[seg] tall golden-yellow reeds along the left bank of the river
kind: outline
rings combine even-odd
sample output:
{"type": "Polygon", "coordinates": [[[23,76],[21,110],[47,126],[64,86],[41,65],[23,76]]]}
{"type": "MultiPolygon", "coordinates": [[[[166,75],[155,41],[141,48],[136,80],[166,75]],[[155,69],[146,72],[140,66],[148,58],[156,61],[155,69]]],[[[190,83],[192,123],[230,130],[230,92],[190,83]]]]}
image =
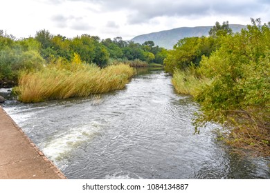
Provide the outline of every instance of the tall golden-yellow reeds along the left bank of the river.
{"type": "Polygon", "coordinates": [[[39,72],[22,72],[16,92],[24,103],[89,96],[123,89],[133,74],[133,68],[125,64],[102,69],[95,65],[81,65],[75,70],[44,68],[39,72]]]}

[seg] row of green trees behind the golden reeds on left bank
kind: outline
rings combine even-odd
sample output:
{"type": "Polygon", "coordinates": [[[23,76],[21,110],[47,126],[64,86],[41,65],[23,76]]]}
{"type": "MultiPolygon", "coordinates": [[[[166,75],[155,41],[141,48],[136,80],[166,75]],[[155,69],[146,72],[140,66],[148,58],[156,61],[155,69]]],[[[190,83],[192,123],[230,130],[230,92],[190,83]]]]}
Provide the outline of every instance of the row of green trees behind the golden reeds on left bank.
{"type": "Polygon", "coordinates": [[[0,30],[0,87],[7,81],[16,84],[20,70],[39,70],[57,60],[72,62],[74,53],[83,63],[100,67],[105,67],[109,59],[163,64],[167,56],[167,50],[154,46],[153,41],[140,44],[122,37],[100,40],[89,34],[66,38],[45,29],[36,32],[35,37],[16,39],[0,30]]]}

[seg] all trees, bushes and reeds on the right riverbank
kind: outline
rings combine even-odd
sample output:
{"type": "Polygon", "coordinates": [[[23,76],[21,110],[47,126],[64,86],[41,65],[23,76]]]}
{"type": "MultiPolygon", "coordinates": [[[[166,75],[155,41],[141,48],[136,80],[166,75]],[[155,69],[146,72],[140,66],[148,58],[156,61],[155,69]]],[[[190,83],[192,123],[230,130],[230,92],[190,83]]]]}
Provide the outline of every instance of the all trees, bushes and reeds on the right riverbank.
{"type": "Polygon", "coordinates": [[[237,151],[270,155],[270,23],[233,34],[216,23],[209,37],[180,40],[165,59],[177,92],[200,104],[195,125],[224,125],[220,139],[237,151]]]}

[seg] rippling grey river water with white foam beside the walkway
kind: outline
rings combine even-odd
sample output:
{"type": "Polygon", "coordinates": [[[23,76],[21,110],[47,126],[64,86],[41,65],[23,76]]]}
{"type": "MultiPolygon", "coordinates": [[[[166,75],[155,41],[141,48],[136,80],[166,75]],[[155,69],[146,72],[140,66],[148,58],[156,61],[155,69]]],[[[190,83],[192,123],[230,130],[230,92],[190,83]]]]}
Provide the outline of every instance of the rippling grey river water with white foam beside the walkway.
{"type": "Polygon", "coordinates": [[[231,154],[217,125],[193,134],[198,105],[145,71],[109,94],[3,108],[69,179],[270,179],[269,159],[231,154]]]}

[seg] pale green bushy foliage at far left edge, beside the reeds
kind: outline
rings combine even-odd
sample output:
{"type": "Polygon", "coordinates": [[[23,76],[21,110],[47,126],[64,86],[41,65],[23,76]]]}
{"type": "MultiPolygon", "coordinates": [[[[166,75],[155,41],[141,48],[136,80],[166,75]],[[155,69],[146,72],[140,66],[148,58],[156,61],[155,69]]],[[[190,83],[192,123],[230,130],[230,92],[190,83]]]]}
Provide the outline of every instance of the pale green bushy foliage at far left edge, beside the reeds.
{"type": "Polygon", "coordinates": [[[0,86],[16,84],[19,70],[42,68],[44,59],[39,54],[38,41],[33,38],[15,41],[12,36],[0,34],[0,86]]]}

